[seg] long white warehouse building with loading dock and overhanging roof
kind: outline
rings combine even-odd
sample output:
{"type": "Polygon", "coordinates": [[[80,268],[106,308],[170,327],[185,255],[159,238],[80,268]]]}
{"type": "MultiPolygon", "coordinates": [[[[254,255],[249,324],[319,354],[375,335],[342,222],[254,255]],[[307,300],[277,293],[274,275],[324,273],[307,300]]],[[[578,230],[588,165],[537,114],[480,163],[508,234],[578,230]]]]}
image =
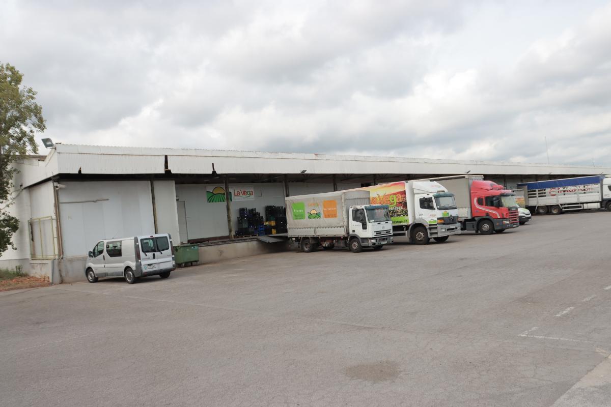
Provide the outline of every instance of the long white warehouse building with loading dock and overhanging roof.
{"type": "Polygon", "coordinates": [[[284,206],[289,195],[464,173],[509,189],[611,173],[609,167],[576,165],[59,143],[16,167],[7,210],[20,229],[0,267],[48,276],[52,283],[84,280],[86,254],[101,239],[167,232],[175,244],[199,244],[204,262],[282,250],[285,245],[235,233],[241,207],[263,214],[265,206],[284,206]]]}

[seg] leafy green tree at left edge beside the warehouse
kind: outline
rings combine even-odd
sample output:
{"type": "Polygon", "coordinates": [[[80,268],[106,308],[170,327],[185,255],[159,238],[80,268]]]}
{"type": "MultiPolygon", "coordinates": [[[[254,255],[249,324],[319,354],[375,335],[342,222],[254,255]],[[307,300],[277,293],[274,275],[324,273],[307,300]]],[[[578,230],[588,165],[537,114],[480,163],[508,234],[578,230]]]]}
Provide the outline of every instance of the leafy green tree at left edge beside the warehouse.
{"type": "Polygon", "coordinates": [[[37,153],[36,132],[46,129],[36,92],[21,85],[23,74],[9,63],[0,63],[0,254],[12,243],[19,220],[6,208],[12,203],[13,162],[28,153],[37,153]]]}

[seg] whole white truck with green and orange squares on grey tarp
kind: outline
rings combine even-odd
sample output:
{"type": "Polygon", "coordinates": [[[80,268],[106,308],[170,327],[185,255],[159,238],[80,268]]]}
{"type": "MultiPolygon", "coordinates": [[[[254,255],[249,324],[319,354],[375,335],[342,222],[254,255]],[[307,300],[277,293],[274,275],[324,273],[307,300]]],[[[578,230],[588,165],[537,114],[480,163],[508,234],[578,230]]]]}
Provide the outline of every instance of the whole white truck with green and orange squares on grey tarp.
{"type": "Polygon", "coordinates": [[[347,190],[288,196],[287,229],[292,245],[305,253],[318,247],[380,250],[393,242],[387,205],[371,205],[369,192],[347,190]]]}

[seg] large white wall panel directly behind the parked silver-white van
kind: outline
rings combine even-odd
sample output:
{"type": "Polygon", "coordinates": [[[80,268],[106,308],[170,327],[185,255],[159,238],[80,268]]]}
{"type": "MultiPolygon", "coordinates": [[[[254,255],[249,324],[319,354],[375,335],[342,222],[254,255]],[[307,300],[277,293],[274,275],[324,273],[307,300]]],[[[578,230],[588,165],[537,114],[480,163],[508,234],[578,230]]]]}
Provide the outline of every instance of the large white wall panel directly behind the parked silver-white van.
{"type": "Polygon", "coordinates": [[[59,190],[64,256],[86,256],[100,239],[152,234],[149,181],[66,181],[59,190]]]}

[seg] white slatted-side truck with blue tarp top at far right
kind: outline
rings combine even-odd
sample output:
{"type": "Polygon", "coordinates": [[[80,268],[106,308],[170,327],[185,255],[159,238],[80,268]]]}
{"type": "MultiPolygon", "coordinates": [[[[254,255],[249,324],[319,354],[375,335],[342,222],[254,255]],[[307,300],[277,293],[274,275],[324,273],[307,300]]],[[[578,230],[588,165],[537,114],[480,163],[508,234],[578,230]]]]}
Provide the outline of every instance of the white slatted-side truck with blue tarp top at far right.
{"type": "Polygon", "coordinates": [[[611,211],[611,176],[594,175],[521,182],[524,204],[538,215],[605,208],[611,211]]]}

